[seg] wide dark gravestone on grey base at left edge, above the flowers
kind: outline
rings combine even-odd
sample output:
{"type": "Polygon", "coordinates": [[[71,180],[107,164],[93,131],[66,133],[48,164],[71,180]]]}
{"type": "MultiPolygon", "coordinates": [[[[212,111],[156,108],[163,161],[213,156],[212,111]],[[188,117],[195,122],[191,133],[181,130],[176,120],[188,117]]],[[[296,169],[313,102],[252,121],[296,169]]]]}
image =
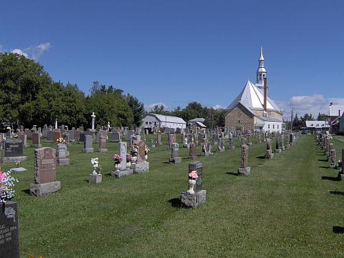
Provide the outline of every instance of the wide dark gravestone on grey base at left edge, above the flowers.
{"type": "Polygon", "coordinates": [[[15,162],[26,160],[23,154],[23,141],[18,139],[6,139],[3,141],[1,162],[15,162]]]}

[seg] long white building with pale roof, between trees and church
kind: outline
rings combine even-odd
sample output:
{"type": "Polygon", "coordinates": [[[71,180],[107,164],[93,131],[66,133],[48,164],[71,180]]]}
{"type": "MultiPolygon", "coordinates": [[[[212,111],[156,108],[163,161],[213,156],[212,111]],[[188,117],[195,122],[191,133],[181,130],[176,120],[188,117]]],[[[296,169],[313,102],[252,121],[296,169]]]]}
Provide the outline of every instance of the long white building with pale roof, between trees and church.
{"type": "Polygon", "coordinates": [[[164,116],[159,114],[146,114],[142,120],[141,127],[153,128],[153,127],[169,127],[169,128],[180,128],[185,129],[186,122],[182,118],[177,116],[164,116]]]}

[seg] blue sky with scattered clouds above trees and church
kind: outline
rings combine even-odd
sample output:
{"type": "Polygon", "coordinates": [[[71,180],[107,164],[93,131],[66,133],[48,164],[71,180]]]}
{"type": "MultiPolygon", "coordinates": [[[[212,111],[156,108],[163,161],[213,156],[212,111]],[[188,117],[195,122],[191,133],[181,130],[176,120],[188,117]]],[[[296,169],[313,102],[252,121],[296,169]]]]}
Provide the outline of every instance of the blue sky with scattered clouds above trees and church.
{"type": "Polygon", "coordinates": [[[344,105],[344,1],[1,1],[0,52],[53,80],[113,85],[147,110],[225,108],[255,83],[262,42],[268,96],[290,120],[344,105]]]}

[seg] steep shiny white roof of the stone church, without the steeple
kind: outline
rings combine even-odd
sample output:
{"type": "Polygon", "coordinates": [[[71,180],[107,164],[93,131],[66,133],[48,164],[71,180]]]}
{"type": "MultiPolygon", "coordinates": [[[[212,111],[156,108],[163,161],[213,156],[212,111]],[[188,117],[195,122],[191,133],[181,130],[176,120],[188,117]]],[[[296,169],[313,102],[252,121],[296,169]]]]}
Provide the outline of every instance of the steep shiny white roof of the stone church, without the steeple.
{"type": "MultiPolygon", "coordinates": [[[[240,92],[237,98],[230,103],[227,110],[233,109],[239,102],[252,110],[263,110],[264,94],[255,85],[253,85],[250,80],[248,80],[244,89],[240,92]]],[[[266,109],[280,112],[279,107],[277,107],[269,97],[266,99],[266,109]]]]}

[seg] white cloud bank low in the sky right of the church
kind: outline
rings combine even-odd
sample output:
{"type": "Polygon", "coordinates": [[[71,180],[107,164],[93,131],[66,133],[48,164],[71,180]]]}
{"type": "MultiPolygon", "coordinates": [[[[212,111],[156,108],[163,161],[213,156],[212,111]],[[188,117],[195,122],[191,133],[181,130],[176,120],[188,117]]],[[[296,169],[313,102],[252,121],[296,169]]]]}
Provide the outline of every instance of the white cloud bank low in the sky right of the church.
{"type": "Polygon", "coordinates": [[[328,114],[328,107],[331,102],[333,105],[344,105],[344,98],[325,99],[321,94],[314,94],[312,96],[293,96],[286,102],[275,101],[279,108],[283,109],[285,120],[290,120],[292,109],[294,109],[294,115],[297,114],[299,118],[308,113],[316,119],[319,112],[320,114],[328,114]]]}

